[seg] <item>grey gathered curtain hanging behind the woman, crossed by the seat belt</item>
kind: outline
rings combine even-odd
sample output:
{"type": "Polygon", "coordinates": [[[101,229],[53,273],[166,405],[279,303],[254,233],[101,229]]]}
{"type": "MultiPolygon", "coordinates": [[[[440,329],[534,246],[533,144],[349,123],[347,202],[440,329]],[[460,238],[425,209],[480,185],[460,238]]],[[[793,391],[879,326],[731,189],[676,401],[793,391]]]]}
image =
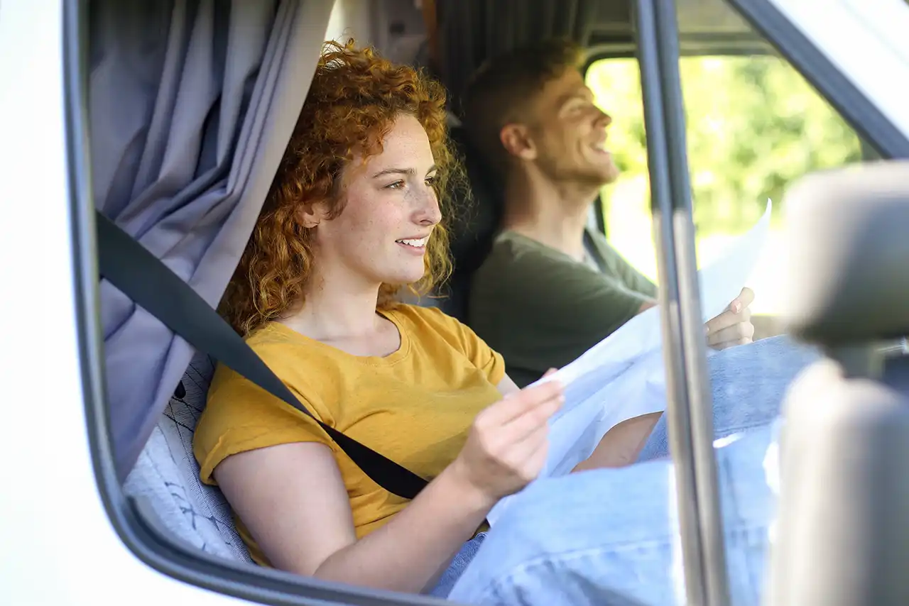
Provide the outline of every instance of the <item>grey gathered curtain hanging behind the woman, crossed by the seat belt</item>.
{"type": "MultiPolygon", "coordinates": [[[[95,204],[215,306],[303,106],[331,0],[98,0],[89,15],[95,204]]],[[[192,350],[101,284],[117,472],[192,350]]]]}

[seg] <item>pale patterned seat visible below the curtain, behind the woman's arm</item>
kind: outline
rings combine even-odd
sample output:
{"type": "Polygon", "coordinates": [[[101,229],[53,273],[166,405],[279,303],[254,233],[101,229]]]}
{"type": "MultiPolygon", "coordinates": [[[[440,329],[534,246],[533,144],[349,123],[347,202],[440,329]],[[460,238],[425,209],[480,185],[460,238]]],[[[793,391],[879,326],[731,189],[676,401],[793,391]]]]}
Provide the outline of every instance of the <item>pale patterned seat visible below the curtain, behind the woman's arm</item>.
{"type": "Polygon", "coordinates": [[[227,560],[252,564],[224,495],[199,480],[199,465],[193,456],[195,423],[205,408],[214,373],[213,360],[196,354],[181,382],[183,389],[167,403],[124,490],[128,496],[144,497],[157,514],[157,522],[176,539],[227,560]]]}

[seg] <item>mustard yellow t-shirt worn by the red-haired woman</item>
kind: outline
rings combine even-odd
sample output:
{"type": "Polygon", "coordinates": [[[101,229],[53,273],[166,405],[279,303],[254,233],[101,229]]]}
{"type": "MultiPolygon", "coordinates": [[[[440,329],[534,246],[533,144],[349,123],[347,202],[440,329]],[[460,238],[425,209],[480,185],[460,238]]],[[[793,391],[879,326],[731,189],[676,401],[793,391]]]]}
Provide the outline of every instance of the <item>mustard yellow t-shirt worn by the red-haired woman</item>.
{"type": "MultiPolygon", "coordinates": [[[[385,357],[345,353],[280,323],[247,343],[322,422],[432,479],[454,461],[477,412],[501,398],[504,361],[437,309],[399,305],[383,315],[401,334],[400,348],[385,357]]],[[[231,454],[289,442],[332,449],[358,538],[408,503],[370,480],[303,412],[219,364],[193,440],[202,481],[215,484],[215,466],[231,454]]],[[[243,522],[236,524],[253,559],[267,565],[243,522]]]]}

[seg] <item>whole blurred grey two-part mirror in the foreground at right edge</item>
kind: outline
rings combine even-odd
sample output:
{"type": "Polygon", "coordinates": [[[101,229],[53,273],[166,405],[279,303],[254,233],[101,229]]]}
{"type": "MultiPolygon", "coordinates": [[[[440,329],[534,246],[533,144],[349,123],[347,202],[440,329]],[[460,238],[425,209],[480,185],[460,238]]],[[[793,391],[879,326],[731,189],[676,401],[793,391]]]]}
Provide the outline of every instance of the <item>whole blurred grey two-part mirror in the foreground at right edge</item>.
{"type": "Polygon", "coordinates": [[[827,358],[784,401],[766,604],[909,603],[909,163],[814,174],[786,195],[784,318],[827,358]],[[904,342],[903,342],[904,344],[904,342]]]}

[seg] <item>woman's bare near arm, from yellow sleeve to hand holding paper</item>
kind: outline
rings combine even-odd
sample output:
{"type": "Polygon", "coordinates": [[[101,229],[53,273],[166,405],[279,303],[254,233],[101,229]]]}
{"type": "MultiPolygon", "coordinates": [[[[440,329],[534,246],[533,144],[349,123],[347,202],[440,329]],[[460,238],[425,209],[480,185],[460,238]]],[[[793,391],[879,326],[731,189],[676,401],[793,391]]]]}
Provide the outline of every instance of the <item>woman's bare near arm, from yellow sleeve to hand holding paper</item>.
{"type": "Polygon", "coordinates": [[[275,568],[394,591],[431,587],[495,502],[536,477],[561,386],[525,389],[477,415],[452,464],[357,541],[332,452],[282,444],[227,457],[215,480],[275,568]]]}

